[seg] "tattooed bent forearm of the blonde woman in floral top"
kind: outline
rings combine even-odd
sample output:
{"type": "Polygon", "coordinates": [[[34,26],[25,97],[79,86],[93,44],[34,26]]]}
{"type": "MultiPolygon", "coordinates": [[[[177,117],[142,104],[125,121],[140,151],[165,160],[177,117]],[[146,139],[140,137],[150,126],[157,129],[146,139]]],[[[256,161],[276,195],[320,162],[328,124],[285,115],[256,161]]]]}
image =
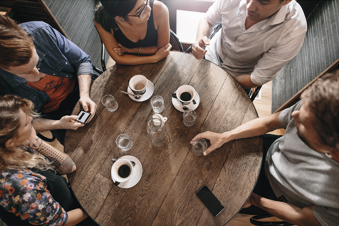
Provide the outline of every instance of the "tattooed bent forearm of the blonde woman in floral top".
{"type": "Polygon", "coordinates": [[[37,137],[33,127],[32,133],[26,141],[26,144],[29,147],[37,150],[40,154],[48,158],[49,161],[53,162],[53,165],[61,174],[71,173],[76,169],[76,166],[69,155],[59,151],[37,137]]]}

